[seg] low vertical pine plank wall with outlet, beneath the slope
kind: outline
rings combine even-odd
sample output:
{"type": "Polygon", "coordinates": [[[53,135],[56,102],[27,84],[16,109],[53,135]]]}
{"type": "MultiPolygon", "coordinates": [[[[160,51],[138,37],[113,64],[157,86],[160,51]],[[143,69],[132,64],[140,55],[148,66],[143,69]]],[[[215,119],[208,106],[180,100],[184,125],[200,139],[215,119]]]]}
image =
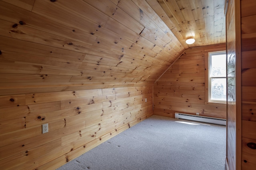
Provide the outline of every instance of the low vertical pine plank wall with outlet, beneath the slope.
{"type": "Polygon", "coordinates": [[[152,88],[0,96],[0,169],[58,168],[152,115],[152,88]]]}

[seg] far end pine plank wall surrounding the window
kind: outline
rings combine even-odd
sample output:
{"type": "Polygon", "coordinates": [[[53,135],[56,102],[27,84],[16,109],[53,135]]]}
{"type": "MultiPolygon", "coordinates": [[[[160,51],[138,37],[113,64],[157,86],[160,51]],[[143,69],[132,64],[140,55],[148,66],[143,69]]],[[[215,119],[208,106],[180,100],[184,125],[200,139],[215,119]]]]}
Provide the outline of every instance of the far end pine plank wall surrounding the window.
{"type": "Polygon", "coordinates": [[[226,118],[226,104],[208,103],[208,52],[225,44],[187,49],[154,84],[154,115],[174,117],[175,112],[226,118]]]}

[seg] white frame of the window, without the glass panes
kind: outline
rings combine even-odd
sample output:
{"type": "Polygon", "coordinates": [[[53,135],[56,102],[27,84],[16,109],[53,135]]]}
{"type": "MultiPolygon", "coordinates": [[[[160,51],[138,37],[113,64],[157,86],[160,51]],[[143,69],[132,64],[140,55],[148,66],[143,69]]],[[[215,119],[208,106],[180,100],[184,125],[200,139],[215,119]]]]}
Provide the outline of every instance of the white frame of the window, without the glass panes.
{"type": "Polygon", "coordinates": [[[226,55],[226,51],[214,51],[214,52],[208,52],[208,68],[209,68],[209,70],[208,70],[208,102],[211,102],[211,103],[226,103],[226,100],[225,101],[223,101],[223,100],[213,100],[213,99],[211,99],[212,98],[212,81],[211,81],[211,79],[212,78],[216,78],[216,79],[218,79],[218,78],[225,78],[225,79],[227,79],[227,77],[225,76],[225,77],[211,77],[210,76],[210,73],[211,73],[211,71],[212,71],[212,60],[211,60],[211,57],[212,57],[212,55],[220,55],[220,54],[225,54],[226,55]]]}

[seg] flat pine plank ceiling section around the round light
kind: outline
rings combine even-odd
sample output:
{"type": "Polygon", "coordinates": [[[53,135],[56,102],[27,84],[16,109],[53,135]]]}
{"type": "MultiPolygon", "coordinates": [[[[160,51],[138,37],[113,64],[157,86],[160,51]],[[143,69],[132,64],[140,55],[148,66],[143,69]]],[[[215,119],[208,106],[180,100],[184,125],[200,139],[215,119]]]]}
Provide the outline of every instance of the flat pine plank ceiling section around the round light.
{"type": "Polygon", "coordinates": [[[226,43],[225,0],[147,0],[182,45],[226,43]],[[185,41],[194,37],[196,42],[185,41]]]}

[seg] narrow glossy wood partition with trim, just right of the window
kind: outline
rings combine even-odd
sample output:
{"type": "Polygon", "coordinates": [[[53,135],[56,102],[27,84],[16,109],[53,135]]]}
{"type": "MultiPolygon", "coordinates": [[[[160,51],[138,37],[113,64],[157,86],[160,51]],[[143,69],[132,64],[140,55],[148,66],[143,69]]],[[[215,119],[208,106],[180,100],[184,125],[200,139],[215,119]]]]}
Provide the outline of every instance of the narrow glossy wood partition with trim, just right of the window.
{"type": "Polygon", "coordinates": [[[227,143],[226,167],[241,169],[241,28],[240,0],[228,0],[227,44],[227,143]]]}

